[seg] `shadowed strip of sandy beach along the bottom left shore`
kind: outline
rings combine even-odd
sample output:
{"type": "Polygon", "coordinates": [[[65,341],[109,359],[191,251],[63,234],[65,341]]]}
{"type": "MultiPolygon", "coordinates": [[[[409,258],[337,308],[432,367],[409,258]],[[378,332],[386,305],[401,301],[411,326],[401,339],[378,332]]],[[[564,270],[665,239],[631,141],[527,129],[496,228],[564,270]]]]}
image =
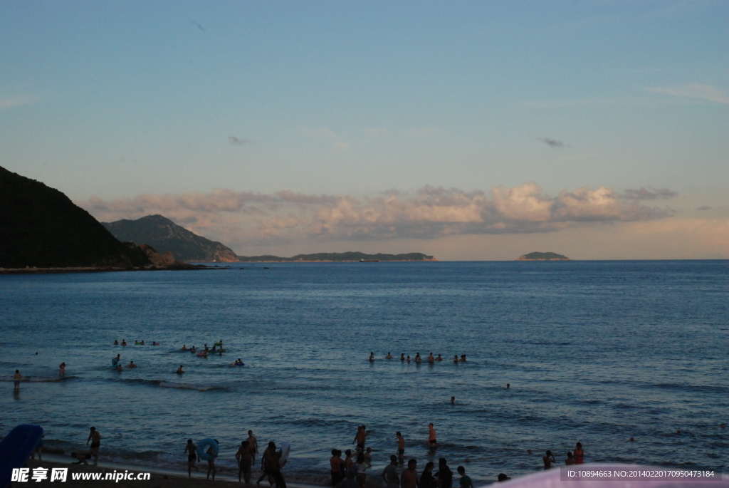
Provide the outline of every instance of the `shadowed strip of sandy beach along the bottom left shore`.
{"type": "MultiPolygon", "coordinates": [[[[244,487],[245,484],[238,483],[238,479],[232,476],[216,476],[215,481],[208,481],[206,479],[206,466],[200,465],[201,473],[192,472],[192,478],[187,477],[187,473],[175,470],[165,470],[159,468],[148,468],[146,466],[139,465],[124,465],[113,462],[99,462],[98,466],[93,465],[74,465],[74,458],[69,456],[63,456],[59,454],[44,454],[43,460],[28,460],[28,468],[31,468],[30,474],[32,475],[34,468],[47,468],[49,479],[36,482],[28,480],[28,483],[32,483],[33,486],[49,484],[52,486],[58,485],[58,481],[50,481],[50,470],[52,468],[69,468],[68,477],[66,482],[63,483],[63,487],[71,488],[85,488],[85,487],[148,487],[148,488],[198,488],[198,487],[244,487]],[[73,479],[73,475],[77,473],[102,473],[101,478],[106,477],[106,473],[124,473],[128,471],[130,473],[150,473],[149,480],[79,480],[73,479]]],[[[284,473],[285,476],[285,473],[284,473]]],[[[22,486],[21,484],[15,484],[14,486],[22,486]]],[[[268,483],[263,481],[260,485],[262,488],[268,488],[268,483]]],[[[286,483],[287,487],[291,488],[317,488],[311,485],[286,483]]]]}

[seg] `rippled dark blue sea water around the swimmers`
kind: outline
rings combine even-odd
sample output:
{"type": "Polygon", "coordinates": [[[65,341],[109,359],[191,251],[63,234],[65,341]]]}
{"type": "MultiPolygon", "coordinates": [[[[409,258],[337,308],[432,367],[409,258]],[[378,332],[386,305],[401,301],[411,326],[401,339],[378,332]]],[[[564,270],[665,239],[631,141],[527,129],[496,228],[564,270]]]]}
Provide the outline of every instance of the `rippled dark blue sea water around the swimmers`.
{"type": "Polygon", "coordinates": [[[70,452],[94,425],[102,460],[170,468],[184,467],[187,438],[214,437],[225,472],[250,429],[261,446],[290,441],[284,474],[313,484],[362,424],[373,486],[396,430],[418,470],[446,457],[477,483],[538,470],[546,449],[562,462],[577,441],[587,462],[726,471],[728,303],[729,261],[0,276],[0,376],[31,376],[19,394],[0,382],[0,435],[37,423],[46,445],[70,452]],[[219,339],[222,357],[179,350],[219,339]],[[112,370],[117,353],[139,368],[112,370]]]}

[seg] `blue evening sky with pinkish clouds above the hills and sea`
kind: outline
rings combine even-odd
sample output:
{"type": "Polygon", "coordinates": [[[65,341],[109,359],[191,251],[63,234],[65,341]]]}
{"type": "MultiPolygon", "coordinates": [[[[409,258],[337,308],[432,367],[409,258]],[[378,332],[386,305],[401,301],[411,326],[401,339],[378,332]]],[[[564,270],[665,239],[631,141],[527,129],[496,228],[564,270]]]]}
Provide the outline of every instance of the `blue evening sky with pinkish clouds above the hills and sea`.
{"type": "Polygon", "coordinates": [[[0,0],[0,166],[239,255],[729,258],[729,2],[0,0]]]}

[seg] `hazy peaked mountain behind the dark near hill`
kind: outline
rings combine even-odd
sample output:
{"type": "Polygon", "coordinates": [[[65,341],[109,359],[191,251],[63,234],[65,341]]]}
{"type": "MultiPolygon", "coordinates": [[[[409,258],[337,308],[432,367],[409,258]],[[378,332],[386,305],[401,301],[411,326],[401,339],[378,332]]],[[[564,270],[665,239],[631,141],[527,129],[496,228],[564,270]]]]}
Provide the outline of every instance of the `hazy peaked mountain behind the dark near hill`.
{"type": "Polygon", "coordinates": [[[200,237],[162,215],[147,215],[137,220],[103,222],[102,225],[120,241],[149,244],[160,254],[172,252],[181,261],[238,262],[238,256],[232,249],[219,242],[200,237]]]}

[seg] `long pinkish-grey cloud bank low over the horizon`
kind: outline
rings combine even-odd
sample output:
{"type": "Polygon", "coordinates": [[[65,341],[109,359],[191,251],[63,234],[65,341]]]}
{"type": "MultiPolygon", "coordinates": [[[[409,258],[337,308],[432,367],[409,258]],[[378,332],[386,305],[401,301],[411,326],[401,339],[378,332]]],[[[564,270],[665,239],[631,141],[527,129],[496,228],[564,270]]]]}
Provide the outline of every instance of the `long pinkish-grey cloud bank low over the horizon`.
{"type": "Polygon", "coordinates": [[[142,194],[76,203],[102,222],[162,214],[185,228],[231,247],[301,241],[438,239],[443,236],[550,233],[590,222],[660,220],[667,206],[643,201],[676,195],[668,189],[580,187],[546,195],[534,182],[467,192],[425,186],[411,193],[389,190],[374,197],[254,193],[142,194]]]}

